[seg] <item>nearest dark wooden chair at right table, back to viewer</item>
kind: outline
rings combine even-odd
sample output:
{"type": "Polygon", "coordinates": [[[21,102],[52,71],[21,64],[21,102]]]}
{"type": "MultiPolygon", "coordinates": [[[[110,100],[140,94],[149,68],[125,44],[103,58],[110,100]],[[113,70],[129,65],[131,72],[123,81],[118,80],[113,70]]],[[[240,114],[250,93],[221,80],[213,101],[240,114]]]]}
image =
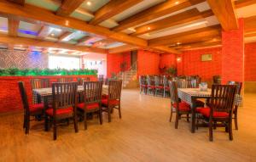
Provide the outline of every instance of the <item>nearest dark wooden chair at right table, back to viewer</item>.
{"type": "Polygon", "coordinates": [[[229,132],[230,140],[233,140],[232,115],[235,94],[235,85],[212,85],[209,107],[197,109],[209,121],[210,141],[213,140],[212,128],[217,126],[224,126],[229,132]]]}

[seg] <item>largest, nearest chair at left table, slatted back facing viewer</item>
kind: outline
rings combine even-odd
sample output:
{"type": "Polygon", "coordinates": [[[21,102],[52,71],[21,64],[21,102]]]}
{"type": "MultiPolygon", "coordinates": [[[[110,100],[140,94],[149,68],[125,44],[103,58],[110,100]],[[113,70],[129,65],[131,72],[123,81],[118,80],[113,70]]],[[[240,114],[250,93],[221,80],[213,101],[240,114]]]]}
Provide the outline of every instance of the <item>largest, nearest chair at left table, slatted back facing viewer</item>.
{"type": "Polygon", "coordinates": [[[49,119],[53,121],[54,140],[57,138],[57,121],[73,118],[75,132],[78,132],[77,120],[77,82],[55,82],[52,84],[53,105],[46,109],[45,126],[48,130],[49,119]]]}

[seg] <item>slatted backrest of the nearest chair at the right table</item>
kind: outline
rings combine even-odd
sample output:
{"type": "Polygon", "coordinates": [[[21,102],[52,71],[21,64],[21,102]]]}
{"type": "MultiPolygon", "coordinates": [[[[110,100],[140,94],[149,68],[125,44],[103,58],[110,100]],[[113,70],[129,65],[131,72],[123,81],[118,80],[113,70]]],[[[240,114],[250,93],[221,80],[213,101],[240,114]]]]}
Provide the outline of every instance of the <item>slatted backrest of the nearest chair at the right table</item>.
{"type": "Polygon", "coordinates": [[[212,97],[210,98],[211,115],[213,111],[227,112],[232,115],[235,93],[235,85],[212,85],[212,97]]]}

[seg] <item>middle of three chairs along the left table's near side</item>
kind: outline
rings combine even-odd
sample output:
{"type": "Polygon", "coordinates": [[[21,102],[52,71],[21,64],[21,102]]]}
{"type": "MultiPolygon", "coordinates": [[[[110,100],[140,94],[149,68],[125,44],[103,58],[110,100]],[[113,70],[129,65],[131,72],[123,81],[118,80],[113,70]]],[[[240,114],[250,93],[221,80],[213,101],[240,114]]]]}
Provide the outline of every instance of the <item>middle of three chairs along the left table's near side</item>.
{"type": "Polygon", "coordinates": [[[84,130],[87,130],[87,113],[98,113],[102,125],[102,81],[84,81],[84,102],[78,104],[84,111],[84,130]]]}

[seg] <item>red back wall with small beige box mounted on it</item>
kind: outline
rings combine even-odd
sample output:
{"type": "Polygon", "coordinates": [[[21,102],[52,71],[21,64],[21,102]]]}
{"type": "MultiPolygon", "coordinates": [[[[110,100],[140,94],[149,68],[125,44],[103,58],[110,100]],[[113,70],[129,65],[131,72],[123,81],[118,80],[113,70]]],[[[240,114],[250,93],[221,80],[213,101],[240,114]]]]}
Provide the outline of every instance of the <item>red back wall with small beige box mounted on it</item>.
{"type": "Polygon", "coordinates": [[[200,75],[205,81],[211,80],[212,75],[221,75],[221,48],[205,48],[189,50],[177,60],[178,75],[200,75]],[[212,61],[201,61],[201,54],[212,54],[212,61]]]}

